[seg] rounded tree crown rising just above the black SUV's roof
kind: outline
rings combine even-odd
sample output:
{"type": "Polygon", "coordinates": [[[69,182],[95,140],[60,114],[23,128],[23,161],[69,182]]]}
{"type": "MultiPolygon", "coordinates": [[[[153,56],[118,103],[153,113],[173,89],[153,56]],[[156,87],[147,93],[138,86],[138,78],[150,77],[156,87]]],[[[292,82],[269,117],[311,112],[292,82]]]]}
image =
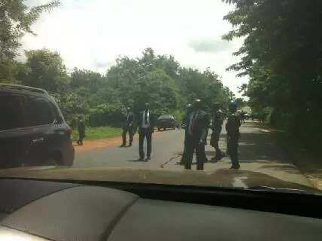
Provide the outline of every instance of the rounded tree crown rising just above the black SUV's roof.
{"type": "Polygon", "coordinates": [[[21,76],[24,85],[44,88],[50,92],[64,92],[68,76],[62,57],[48,49],[25,51],[27,73],[21,76]]]}

